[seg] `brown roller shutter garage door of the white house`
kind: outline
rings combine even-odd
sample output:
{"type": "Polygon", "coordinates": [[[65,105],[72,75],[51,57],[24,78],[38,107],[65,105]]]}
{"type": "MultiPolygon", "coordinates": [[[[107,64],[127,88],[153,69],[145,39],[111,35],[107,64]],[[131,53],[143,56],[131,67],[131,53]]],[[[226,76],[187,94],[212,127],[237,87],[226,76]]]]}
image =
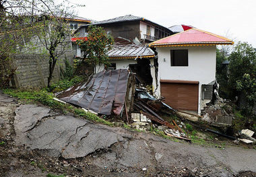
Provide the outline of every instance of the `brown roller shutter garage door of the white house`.
{"type": "Polygon", "coordinates": [[[198,81],[160,80],[164,102],[177,110],[198,108],[198,81]]]}

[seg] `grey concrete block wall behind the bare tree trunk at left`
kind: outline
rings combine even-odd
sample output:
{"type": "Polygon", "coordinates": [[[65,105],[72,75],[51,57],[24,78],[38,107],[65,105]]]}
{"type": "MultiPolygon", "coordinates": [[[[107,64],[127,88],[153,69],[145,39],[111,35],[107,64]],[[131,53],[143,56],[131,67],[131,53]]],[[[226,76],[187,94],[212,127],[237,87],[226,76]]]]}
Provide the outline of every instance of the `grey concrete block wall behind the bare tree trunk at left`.
{"type": "MultiPolygon", "coordinates": [[[[65,58],[73,62],[73,54],[67,53],[59,57],[53,71],[52,82],[61,78],[61,68],[65,69],[65,58]]],[[[46,87],[49,76],[49,56],[40,54],[22,54],[12,57],[16,67],[12,85],[15,87],[46,87]]]]}

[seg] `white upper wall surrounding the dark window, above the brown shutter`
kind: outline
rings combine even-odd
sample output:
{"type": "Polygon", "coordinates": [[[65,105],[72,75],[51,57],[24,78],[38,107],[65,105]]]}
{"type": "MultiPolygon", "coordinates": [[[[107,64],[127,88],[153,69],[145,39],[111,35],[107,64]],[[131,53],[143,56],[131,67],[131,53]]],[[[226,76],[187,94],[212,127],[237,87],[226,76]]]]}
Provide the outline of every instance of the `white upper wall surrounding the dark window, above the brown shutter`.
{"type": "MultiPolygon", "coordinates": [[[[160,79],[199,81],[199,105],[201,112],[201,85],[208,84],[216,78],[216,46],[159,47],[158,52],[158,85],[160,79]],[[189,66],[170,66],[170,50],[188,49],[189,66]],[[165,59],[165,61],[164,61],[165,59]]],[[[153,85],[156,88],[156,85],[153,85]]],[[[160,98],[160,86],[153,90],[160,98]]]]}

